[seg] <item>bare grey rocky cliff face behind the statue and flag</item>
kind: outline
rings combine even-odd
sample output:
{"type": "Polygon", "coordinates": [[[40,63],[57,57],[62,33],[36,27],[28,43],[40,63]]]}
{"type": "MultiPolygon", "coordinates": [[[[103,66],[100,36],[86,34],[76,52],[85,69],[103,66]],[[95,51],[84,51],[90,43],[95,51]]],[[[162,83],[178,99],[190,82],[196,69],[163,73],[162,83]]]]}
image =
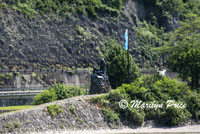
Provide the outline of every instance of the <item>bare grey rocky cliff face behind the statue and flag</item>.
{"type": "Polygon", "coordinates": [[[2,8],[0,67],[91,67],[102,56],[106,39],[123,45],[128,28],[133,44],[134,29],[145,14],[144,6],[132,0],[124,2],[118,17],[54,13],[27,17],[15,8],[2,8]]]}

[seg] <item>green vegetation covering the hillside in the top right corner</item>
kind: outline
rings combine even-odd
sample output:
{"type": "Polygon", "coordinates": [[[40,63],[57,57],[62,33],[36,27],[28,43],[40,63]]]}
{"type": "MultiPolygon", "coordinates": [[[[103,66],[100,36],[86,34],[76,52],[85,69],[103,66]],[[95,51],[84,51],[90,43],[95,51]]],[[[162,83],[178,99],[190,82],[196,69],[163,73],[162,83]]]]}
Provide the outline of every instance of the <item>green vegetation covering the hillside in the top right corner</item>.
{"type": "Polygon", "coordinates": [[[137,0],[145,7],[153,7],[146,19],[162,26],[163,18],[183,20],[187,14],[200,15],[200,1],[198,0],[137,0]]]}

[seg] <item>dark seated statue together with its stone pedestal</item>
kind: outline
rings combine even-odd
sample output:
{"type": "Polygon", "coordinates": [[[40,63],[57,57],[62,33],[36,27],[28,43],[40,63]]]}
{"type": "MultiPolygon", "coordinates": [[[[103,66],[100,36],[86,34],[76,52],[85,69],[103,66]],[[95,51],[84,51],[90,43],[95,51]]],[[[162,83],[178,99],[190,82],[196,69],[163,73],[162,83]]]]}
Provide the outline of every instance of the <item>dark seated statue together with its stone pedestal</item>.
{"type": "Polygon", "coordinates": [[[106,75],[106,62],[101,59],[98,68],[94,68],[91,76],[90,94],[107,93],[111,89],[108,76],[106,75]]]}

